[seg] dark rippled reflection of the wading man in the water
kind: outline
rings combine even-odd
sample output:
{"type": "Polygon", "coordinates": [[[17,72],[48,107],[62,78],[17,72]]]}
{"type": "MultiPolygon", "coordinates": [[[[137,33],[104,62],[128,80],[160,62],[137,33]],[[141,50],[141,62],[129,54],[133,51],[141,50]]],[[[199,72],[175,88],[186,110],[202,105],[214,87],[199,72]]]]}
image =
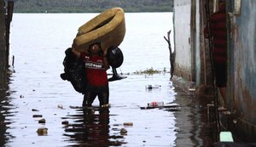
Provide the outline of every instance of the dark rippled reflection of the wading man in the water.
{"type": "MultiPolygon", "coordinates": [[[[64,136],[71,146],[120,146],[125,144],[121,135],[110,135],[109,110],[107,108],[78,109],[77,115],[63,119],[73,121],[65,128],[64,136]]],[[[118,131],[118,130],[116,130],[118,131]]]]}

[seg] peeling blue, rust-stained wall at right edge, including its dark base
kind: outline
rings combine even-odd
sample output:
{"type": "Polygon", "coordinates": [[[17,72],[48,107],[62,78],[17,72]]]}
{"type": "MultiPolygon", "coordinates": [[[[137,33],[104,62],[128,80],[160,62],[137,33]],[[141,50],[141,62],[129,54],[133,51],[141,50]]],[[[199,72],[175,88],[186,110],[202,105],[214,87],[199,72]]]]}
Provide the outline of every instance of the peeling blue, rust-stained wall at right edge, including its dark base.
{"type": "Polygon", "coordinates": [[[256,1],[229,1],[229,74],[225,127],[245,142],[256,139],[256,1]],[[235,4],[237,3],[237,5],[235,4]],[[236,122],[234,122],[236,120],[236,122]]]}

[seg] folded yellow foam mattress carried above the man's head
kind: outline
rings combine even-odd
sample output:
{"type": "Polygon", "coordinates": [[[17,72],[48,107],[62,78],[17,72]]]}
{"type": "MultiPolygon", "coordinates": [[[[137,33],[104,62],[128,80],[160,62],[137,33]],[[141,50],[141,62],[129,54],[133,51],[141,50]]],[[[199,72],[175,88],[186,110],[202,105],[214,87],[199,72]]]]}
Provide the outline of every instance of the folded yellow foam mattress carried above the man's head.
{"type": "Polygon", "coordinates": [[[79,27],[73,48],[85,52],[95,42],[101,42],[102,48],[118,47],[124,37],[124,11],[122,8],[110,8],[79,27]]]}

